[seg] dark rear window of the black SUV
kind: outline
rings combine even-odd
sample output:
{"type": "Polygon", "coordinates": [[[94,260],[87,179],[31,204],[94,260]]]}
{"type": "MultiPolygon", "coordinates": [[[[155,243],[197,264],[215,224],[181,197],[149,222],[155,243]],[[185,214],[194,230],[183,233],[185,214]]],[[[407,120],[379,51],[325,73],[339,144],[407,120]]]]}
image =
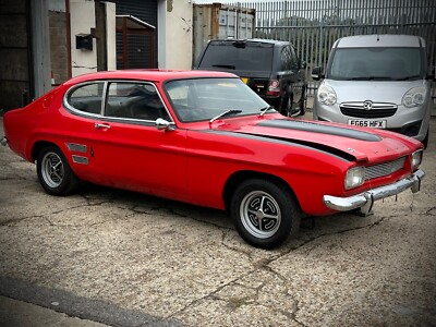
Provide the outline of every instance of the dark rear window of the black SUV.
{"type": "Polygon", "coordinates": [[[210,43],[199,63],[201,69],[270,72],[272,44],[210,43]]]}

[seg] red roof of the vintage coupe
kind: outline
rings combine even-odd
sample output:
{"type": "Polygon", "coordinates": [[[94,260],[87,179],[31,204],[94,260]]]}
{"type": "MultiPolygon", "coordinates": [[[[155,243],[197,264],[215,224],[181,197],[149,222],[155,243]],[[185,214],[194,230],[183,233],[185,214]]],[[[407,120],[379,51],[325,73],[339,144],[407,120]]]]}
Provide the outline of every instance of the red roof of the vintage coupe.
{"type": "Polygon", "coordinates": [[[202,71],[202,70],[119,70],[119,71],[101,71],[78,75],[65,82],[65,84],[76,84],[87,81],[98,80],[135,80],[135,81],[153,81],[165,82],[169,80],[183,78],[202,78],[202,77],[238,77],[232,73],[219,71],[202,71]]]}

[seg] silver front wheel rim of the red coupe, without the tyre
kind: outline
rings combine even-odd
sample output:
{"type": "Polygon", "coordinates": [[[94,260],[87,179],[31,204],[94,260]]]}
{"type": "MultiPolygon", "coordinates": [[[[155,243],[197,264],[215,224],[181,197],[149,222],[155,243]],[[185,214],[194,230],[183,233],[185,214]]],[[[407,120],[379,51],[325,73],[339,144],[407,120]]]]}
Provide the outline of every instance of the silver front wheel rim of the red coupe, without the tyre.
{"type": "Polygon", "coordinates": [[[244,196],[240,206],[240,217],[245,230],[258,239],[272,237],[281,223],[281,211],[277,201],[263,191],[253,191],[244,196]]]}

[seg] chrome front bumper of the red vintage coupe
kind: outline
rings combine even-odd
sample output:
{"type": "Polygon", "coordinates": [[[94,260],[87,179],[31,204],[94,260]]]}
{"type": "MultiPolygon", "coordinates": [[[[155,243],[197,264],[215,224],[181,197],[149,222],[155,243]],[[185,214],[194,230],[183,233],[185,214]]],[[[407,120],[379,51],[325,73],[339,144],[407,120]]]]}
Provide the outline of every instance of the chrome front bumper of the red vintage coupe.
{"type": "Polygon", "coordinates": [[[399,180],[392,184],[366,191],[349,197],[338,197],[324,195],[323,202],[330,209],[338,211],[349,211],[355,208],[361,208],[361,213],[367,215],[374,205],[374,202],[388,196],[401,193],[407,189],[412,189],[412,193],[421,190],[421,180],[425,177],[425,172],[416,170],[412,175],[399,180]]]}

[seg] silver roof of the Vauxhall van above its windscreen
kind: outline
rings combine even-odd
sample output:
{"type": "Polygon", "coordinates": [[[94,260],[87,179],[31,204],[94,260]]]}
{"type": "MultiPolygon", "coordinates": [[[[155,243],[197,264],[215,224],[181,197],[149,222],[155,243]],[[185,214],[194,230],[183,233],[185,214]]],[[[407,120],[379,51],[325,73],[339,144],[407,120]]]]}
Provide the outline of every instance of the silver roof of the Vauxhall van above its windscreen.
{"type": "Polygon", "coordinates": [[[346,36],[338,39],[334,47],[336,48],[379,48],[379,47],[425,47],[422,37],[414,35],[392,35],[392,34],[373,34],[346,36]]]}

